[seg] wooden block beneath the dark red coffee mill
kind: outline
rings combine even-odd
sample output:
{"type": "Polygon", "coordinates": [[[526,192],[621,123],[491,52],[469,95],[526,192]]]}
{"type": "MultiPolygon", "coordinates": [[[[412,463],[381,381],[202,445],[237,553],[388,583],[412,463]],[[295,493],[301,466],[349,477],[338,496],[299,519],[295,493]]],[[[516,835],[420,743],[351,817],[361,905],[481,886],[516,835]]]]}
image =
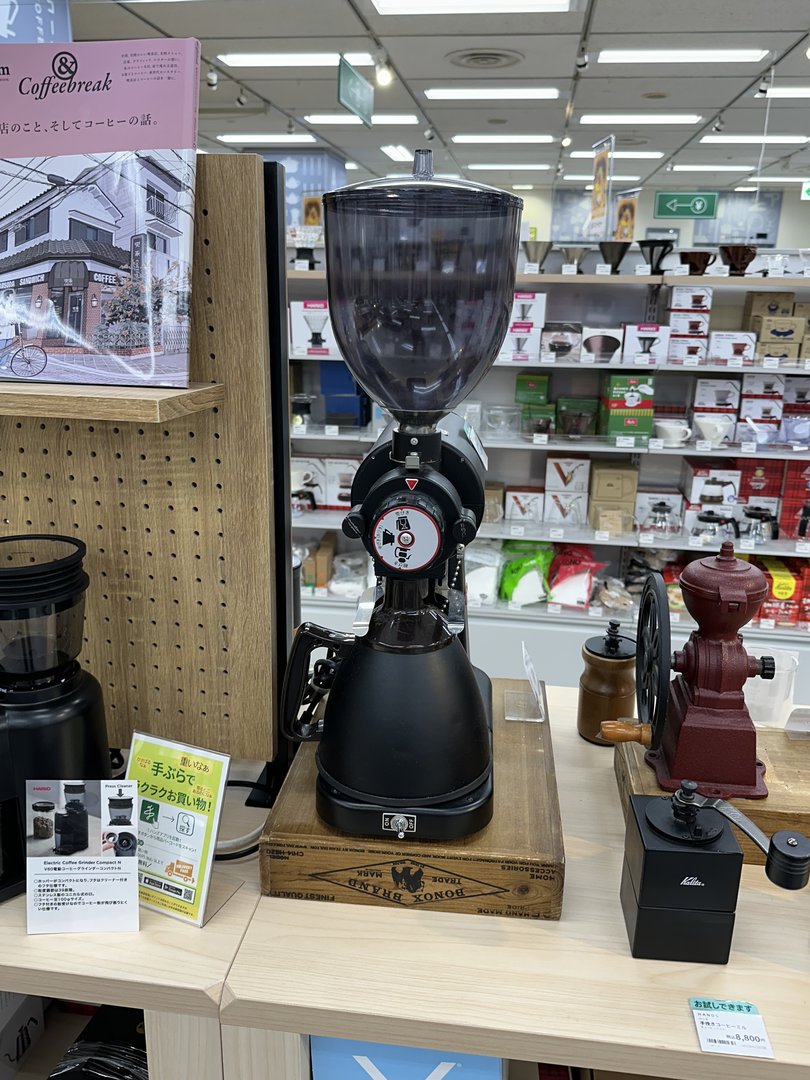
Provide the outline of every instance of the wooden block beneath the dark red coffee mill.
{"type": "MultiPolygon", "coordinates": [[[[638,743],[616,747],[615,772],[626,815],[631,795],[669,795],[658,786],[656,772],[644,760],[638,743]]],[[[810,834],[810,743],[793,741],[781,728],[757,728],[757,757],[765,762],[765,799],[729,799],[758,825],[766,836],[782,828],[810,834]]],[[[739,829],[734,835],[743,850],[743,861],[765,865],[765,855],[739,829]]]]}

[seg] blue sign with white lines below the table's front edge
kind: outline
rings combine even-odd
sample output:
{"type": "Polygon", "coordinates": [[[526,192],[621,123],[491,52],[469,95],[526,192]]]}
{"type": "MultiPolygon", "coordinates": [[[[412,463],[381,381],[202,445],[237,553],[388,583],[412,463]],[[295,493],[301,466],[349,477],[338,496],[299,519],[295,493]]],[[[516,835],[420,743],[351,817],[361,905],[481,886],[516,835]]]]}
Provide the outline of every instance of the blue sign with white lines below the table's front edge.
{"type": "Polygon", "coordinates": [[[500,1057],[450,1050],[388,1047],[314,1035],[310,1047],[312,1080],[444,1080],[457,1074],[464,1080],[502,1080],[505,1075],[500,1057]]]}

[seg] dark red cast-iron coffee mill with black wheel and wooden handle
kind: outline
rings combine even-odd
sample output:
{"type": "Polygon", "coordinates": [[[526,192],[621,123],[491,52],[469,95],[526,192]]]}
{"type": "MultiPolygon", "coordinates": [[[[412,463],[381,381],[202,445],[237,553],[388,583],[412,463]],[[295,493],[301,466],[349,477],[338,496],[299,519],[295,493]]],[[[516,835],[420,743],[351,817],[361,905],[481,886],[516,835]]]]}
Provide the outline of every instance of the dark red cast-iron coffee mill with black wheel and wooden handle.
{"type": "Polygon", "coordinates": [[[677,791],[696,780],[708,797],[762,799],[765,766],[745,705],[745,680],[773,678],[772,657],[750,656],[739,631],[768,595],[765,575],[720,553],[691,563],[680,575],[687,610],[698,623],[683,650],[670,652],[670,615],[660,573],[647,578],[638,612],[636,696],[639,724],[606,721],[610,742],[640,742],[659,785],[677,791]],[[670,669],[677,672],[670,681],[670,669]]]}

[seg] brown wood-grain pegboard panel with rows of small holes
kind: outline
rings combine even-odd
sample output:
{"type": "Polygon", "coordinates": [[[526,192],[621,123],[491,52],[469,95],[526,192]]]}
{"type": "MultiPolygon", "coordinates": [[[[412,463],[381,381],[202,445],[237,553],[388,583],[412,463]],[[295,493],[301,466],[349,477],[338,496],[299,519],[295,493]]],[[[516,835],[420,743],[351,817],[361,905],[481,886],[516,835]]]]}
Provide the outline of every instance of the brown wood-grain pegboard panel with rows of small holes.
{"type": "Polygon", "coordinates": [[[198,158],[192,273],[191,380],[225,383],[224,403],[157,424],[0,417],[0,528],[86,543],[80,659],[111,745],[137,728],[271,760],[269,370],[283,357],[269,355],[258,158],[198,158]]]}

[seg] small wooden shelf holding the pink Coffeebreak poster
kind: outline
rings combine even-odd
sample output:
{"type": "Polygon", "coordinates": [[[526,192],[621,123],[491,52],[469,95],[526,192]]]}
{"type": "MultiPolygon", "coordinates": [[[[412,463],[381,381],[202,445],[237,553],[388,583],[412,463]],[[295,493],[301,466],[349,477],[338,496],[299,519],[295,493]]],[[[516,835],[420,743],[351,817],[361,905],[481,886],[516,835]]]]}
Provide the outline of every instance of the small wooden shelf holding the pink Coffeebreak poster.
{"type": "Polygon", "coordinates": [[[178,416],[202,413],[224,401],[221,382],[197,382],[181,389],[0,382],[0,416],[163,423],[178,416]]]}

